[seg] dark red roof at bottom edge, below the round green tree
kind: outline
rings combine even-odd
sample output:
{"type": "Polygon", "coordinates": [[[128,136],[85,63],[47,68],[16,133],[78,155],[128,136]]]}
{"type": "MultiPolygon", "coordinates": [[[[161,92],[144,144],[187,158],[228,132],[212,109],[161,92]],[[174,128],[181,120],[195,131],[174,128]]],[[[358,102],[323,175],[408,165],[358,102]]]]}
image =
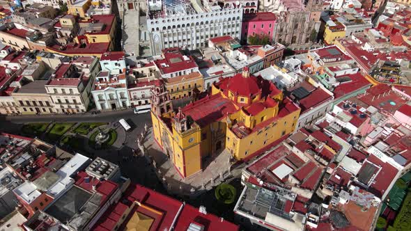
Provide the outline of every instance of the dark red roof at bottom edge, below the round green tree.
{"type": "Polygon", "coordinates": [[[204,231],[230,231],[239,230],[238,225],[224,221],[214,214],[202,214],[199,209],[191,205],[185,205],[180,216],[178,216],[175,230],[187,230],[190,223],[203,226],[204,231]]]}

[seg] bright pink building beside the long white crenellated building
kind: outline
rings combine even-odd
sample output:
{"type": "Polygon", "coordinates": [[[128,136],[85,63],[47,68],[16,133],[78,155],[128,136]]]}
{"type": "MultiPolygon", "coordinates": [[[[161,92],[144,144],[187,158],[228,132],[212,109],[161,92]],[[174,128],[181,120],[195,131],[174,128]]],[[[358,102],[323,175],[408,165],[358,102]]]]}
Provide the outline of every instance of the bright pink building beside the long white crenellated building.
{"type": "Polygon", "coordinates": [[[274,38],[276,17],[274,13],[261,12],[245,14],[242,17],[241,42],[247,43],[247,38],[256,34],[268,35],[270,40],[274,38]]]}

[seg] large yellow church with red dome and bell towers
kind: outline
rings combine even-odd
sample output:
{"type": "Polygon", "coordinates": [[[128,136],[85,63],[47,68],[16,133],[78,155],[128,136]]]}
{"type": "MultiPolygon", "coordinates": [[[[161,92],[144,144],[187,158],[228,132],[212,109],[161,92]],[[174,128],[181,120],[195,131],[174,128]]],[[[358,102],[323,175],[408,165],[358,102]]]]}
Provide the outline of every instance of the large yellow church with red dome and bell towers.
{"type": "Polygon", "coordinates": [[[152,90],[155,141],[182,177],[203,169],[206,157],[224,149],[235,160],[249,159],[295,129],[300,108],[283,99],[270,81],[249,74],[222,79],[211,95],[173,111],[164,86],[152,90]]]}

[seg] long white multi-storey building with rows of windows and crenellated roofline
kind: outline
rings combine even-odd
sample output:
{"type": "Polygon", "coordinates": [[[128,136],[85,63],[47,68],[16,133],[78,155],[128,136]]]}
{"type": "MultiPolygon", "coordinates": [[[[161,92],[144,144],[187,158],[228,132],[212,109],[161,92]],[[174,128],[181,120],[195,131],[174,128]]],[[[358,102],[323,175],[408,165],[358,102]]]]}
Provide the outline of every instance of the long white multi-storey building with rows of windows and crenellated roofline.
{"type": "Polygon", "coordinates": [[[242,7],[222,9],[202,6],[199,1],[163,1],[162,11],[150,11],[147,17],[151,53],[159,55],[170,47],[207,47],[209,38],[222,35],[240,40],[241,24],[242,7]]]}

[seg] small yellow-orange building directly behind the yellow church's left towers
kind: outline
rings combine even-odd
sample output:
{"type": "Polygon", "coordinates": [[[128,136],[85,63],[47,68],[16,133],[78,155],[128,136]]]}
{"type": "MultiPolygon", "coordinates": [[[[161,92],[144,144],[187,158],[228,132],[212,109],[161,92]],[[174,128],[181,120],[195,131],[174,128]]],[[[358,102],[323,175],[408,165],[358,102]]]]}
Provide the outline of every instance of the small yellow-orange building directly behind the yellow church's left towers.
{"type": "Polygon", "coordinates": [[[178,77],[164,79],[166,90],[170,93],[171,99],[181,99],[191,97],[194,91],[203,91],[203,75],[200,72],[180,75],[178,77]],[[195,90],[196,89],[196,90],[195,90]]]}

